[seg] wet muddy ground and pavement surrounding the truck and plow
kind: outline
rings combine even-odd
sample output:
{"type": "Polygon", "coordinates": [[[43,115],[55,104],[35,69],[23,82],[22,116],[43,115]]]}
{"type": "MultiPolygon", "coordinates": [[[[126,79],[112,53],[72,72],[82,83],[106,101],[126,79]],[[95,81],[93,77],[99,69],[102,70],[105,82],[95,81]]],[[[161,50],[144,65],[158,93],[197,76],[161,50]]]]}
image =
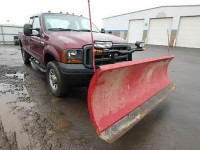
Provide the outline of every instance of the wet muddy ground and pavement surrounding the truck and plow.
{"type": "MultiPolygon", "coordinates": [[[[0,45],[0,150],[197,150],[200,147],[200,50],[172,48],[177,85],[161,105],[113,144],[98,138],[87,88],[54,97],[44,73],[24,65],[18,46],[0,45]]],[[[147,46],[134,59],[167,55],[147,46]]]]}

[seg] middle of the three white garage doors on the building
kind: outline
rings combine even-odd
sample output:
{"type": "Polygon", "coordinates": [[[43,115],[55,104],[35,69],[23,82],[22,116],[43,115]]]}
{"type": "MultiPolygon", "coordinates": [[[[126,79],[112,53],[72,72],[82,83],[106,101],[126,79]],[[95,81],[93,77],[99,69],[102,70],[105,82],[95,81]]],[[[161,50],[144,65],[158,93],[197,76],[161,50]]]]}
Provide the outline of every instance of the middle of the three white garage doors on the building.
{"type": "Polygon", "coordinates": [[[148,44],[168,45],[167,30],[171,32],[172,18],[150,19],[148,44]]]}

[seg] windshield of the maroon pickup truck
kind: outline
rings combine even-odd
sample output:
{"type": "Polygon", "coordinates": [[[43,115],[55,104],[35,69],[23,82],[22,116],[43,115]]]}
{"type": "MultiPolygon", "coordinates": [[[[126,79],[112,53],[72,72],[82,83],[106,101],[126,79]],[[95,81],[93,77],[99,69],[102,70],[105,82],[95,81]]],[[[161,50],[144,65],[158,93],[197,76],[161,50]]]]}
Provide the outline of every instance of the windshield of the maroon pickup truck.
{"type": "MultiPolygon", "coordinates": [[[[45,14],[45,28],[48,31],[85,31],[90,32],[90,21],[87,18],[65,15],[65,14],[45,14]]],[[[93,32],[99,32],[93,24],[93,32]]]]}

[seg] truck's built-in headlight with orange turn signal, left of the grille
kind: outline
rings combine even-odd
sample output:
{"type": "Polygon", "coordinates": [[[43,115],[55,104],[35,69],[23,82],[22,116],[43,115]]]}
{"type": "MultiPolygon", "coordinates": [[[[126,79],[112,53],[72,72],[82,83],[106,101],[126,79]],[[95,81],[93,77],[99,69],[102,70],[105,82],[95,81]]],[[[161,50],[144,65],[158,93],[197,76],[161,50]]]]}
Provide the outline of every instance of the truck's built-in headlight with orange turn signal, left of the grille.
{"type": "Polygon", "coordinates": [[[83,50],[82,49],[70,49],[63,51],[62,62],[63,63],[82,63],[83,50]]]}

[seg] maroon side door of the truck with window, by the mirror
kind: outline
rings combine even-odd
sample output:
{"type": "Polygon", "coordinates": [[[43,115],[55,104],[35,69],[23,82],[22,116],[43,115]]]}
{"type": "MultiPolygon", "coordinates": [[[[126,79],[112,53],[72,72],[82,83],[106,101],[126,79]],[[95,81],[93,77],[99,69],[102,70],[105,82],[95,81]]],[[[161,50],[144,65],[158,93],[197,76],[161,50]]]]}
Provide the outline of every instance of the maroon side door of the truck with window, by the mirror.
{"type": "Polygon", "coordinates": [[[33,30],[32,30],[33,36],[30,36],[29,39],[30,52],[33,55],[33,57],[35,57],[39,62],[42,63],[42,55],[45,45],[40,32],[41,32],[40,18],[38,16],[35,16],[33,20],[33,30]]]}

